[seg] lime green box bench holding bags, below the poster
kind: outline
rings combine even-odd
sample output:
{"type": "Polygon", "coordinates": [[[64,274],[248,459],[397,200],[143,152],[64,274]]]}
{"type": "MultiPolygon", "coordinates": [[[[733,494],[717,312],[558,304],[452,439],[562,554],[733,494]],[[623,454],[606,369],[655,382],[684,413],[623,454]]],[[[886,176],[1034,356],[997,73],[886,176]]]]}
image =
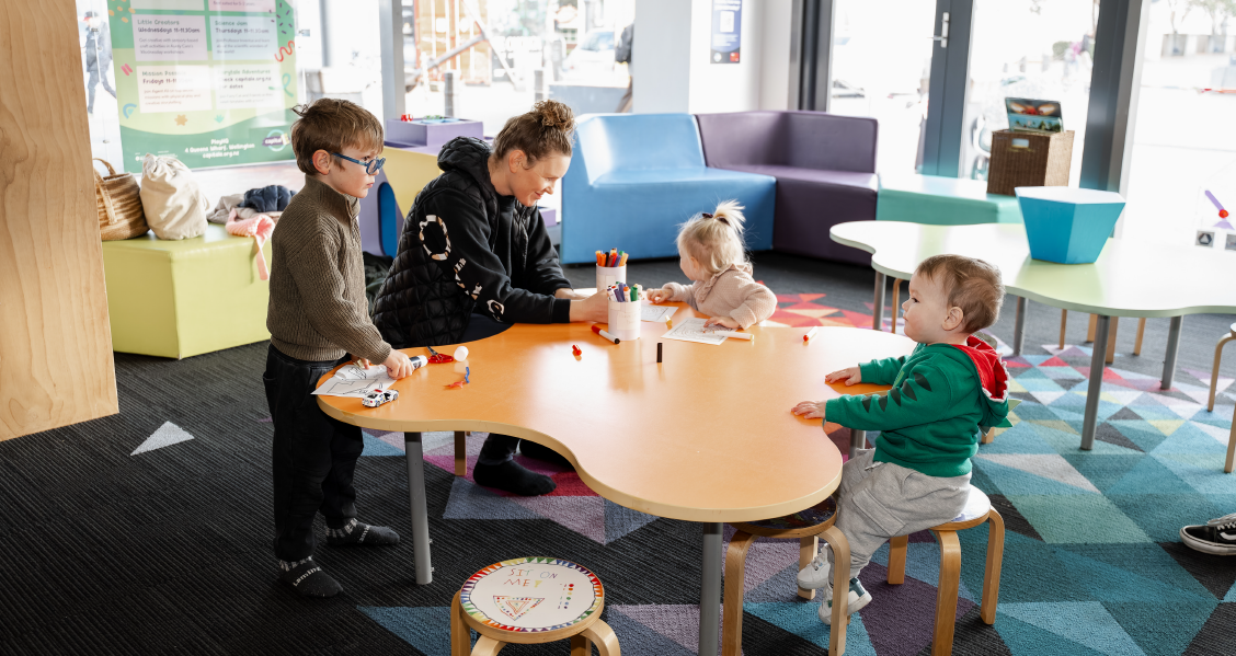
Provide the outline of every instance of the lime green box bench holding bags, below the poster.
{"type": "Polygon", "coordinates": [[[112,350],[184,358],[271,339],[255,243],[215,224],[192,240],[103,242],[112,350]]]}

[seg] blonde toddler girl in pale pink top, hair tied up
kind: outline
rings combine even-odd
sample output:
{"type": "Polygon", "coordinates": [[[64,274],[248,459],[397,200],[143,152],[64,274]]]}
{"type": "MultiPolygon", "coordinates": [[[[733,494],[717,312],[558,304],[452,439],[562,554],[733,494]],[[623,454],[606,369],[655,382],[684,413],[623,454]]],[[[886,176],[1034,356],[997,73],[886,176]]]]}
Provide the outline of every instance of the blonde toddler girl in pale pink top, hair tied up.
{"type": "Polygon", "coordinates": [[[679,266],[690,285],[665,283],[648,292],[648,300],[685,300],[711,316],[706,325],[748,329],[776,311],[772,290],[751,278],[743,247],[743,206],[727,200],[691,217],[679,232],[679,266]]]}

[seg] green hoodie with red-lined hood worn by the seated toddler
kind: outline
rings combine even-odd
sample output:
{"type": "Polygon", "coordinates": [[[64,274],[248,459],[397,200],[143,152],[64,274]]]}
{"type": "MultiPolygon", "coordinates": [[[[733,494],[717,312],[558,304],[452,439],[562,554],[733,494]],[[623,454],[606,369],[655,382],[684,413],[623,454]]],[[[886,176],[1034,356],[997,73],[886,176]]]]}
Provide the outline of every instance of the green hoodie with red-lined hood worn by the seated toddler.
{"type": "Polygon", "coordinates": [[[875,461],[927,476],[970,472],[979,437],[1009,414],[1009,372],[1000,356],[970,336],[965,346],[920,343],[910,356],[860,364],[864,383],[887,394],[832,399],[824,420],[878,430],[875,461]]]}

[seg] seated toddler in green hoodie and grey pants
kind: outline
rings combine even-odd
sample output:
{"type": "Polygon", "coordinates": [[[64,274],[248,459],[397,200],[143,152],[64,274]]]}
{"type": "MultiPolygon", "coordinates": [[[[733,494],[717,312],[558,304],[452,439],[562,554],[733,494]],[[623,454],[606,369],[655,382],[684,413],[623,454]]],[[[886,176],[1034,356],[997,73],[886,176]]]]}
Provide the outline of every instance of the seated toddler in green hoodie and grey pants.
{"type": "MultiPolygon", "coordinates": [[[[910,278],[906,336],[910,356],[868,362],[829,373],[827,382],[891,384],[886,395],[845,395],[803,402],[794,413],[853,430],[880,431],[874,450],[842,467],[837,528],[850,547],[849,613],[871,602],[858,574],[889,537],[952,521],[970,490],[970,457],[979,436],[1009,414],[1004,362],[973,334],[996,321],[1004,300],[1000,271],[962,256],[925,259],[910,278]]],[[[831,583],[832,550],[798,572],[806,589],[831,583]]],[[[823,594],[819,619],[832,616],[823,594]]]]}

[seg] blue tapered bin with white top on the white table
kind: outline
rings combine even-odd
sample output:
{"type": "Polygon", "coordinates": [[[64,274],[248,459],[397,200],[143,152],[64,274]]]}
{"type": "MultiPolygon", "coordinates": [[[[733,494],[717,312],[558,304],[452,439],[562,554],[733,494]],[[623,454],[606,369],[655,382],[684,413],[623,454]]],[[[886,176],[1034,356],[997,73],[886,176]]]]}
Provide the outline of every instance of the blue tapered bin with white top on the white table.
{"type": "Polygon", "coordinates": [[[1099,259],[1125,199],[1112,191],[1072,187],[1014,189],[1026,224],[1030,257],[1060,264],[1099,259]]]}

